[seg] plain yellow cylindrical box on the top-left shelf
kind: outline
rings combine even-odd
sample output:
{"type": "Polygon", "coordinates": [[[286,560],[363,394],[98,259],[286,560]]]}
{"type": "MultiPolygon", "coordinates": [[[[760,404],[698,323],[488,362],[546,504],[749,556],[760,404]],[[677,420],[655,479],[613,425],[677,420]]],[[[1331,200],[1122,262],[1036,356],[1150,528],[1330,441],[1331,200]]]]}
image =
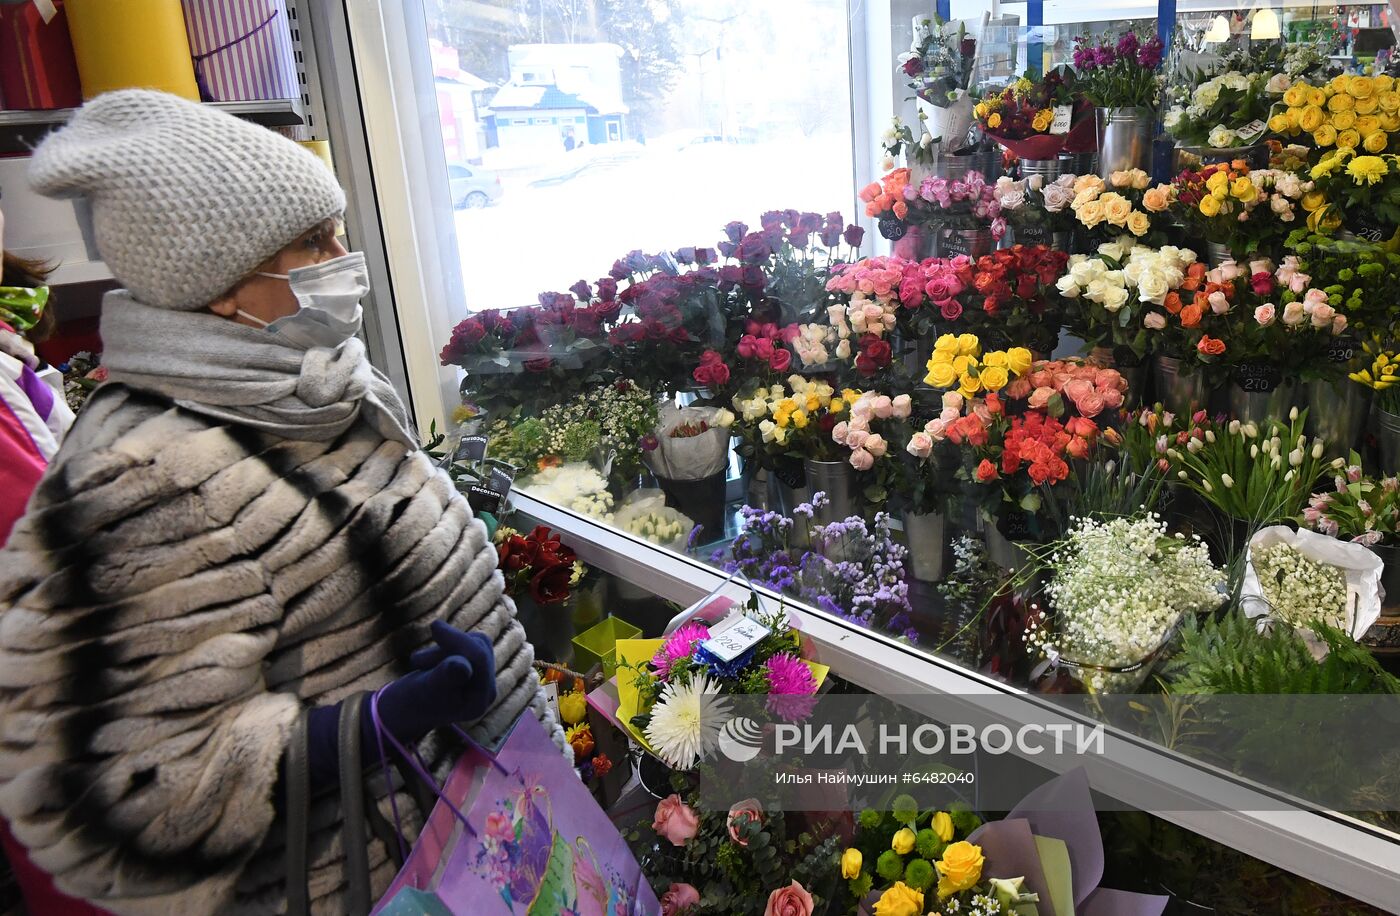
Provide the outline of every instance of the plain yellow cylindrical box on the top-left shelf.
{"type": "Polygon", "coordinates": [[[67,0],[83,98],[162,90],[199,101],[179,0],[67,0]]]}

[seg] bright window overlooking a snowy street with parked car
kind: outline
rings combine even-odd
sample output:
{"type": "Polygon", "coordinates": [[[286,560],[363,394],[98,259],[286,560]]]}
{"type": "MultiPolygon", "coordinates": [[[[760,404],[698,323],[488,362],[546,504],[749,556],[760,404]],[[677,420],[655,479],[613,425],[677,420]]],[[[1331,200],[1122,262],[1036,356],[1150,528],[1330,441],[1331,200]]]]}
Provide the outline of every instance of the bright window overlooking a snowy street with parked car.
{"type": "Polygon", "coordinates": [[[713,247],[749,213],[851,210],[846,0],[424,10],[445,158],[473,171],[445,182],[469,312],[713,247]],[[505,269],[522,259],[528,283],[505,269]]]}

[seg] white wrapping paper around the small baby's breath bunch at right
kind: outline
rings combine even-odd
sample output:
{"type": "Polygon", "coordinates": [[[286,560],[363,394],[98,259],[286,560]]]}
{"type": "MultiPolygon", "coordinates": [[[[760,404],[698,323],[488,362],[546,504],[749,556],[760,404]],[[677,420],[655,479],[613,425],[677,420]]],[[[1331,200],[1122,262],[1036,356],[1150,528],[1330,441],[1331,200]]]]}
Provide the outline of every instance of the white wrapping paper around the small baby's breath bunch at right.
{"type": "MultiPolygon", "coordinates": [[[[1249,556],[1245,559],[1245,585],[1240,590],[1240,605],[1245,613],[1259,619],[1263,629],[1268,619],[1268,604],[1264,601],[1264,590],[1259,584],[1254,573],[1254,548],[1270,548],[1275,543],[1287,543],[1303,556],[1319,563],[1336,566],[1347,576],[1347,632],[1352,639],[1359,640],[1371,625],[1380,618],[1382,588],[1380,573],[1385,562],[1371,549],[1348,541],[1337,541],[1316,531],[1294,531],[1285,525],[1270,525],[1260,528],[1249,539],[1249,556]],[[1257,601],[1247,601],[1256,598],[1257,601]]],[[[1303,639],[1320,660],[1327,654],[1327,644],[1322,643],[1310,633],[1303,639]]]]}

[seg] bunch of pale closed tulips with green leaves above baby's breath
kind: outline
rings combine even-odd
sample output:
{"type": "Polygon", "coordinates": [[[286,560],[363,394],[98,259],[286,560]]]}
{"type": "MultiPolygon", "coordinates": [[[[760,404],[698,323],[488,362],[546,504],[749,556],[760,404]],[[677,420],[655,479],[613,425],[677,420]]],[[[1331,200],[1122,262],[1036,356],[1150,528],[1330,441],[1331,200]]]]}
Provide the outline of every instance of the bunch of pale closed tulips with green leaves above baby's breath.
{"type": "Polygon", "coordinates": [[[1329,462],[1323,441],[1303,434],[1306,410],[1288,412],[1288,422],[1231,420],[1207,429],[1182,448],[1169,448],[1176,479],[1229,518],[1267,525],[1298,515],[1329,462]]]}

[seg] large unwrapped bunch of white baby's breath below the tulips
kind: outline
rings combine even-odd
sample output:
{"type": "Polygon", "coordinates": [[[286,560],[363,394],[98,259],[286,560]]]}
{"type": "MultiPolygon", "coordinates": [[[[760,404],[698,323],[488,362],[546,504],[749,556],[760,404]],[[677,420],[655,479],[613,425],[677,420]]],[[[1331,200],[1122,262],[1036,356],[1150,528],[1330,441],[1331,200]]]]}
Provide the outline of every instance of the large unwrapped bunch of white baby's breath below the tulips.
{"type": "Polygon", "coordinates": [[[1026,641],[1096,693],[1135,689],[1180,619],[1222,601],[1205,545],[1154,514],[1079,520],[1047,553],[1050,609],[1026,641]]]}

